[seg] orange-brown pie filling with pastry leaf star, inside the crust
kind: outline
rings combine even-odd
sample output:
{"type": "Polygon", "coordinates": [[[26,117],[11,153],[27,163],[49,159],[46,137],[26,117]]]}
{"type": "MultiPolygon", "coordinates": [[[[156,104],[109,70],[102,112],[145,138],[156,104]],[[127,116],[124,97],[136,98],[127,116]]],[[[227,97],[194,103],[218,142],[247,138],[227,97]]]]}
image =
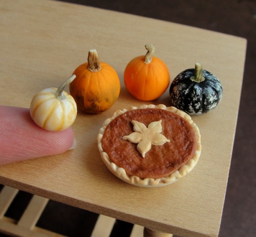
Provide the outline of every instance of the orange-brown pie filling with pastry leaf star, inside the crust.
{"type": "Polygon", "coordinates": [[[113,163],[141,179],[169,176],[194,156],[198,146],[185,118],[158,108],[132,109],[115,117],[101,143],[113,163]]]}

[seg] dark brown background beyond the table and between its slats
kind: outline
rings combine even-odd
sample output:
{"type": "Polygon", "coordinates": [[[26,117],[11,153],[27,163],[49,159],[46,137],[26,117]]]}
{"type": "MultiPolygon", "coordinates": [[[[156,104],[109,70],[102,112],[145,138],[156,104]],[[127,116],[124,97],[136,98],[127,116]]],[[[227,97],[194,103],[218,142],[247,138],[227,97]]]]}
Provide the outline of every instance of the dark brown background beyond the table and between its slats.
{"type": "MultiPolygon", "coordinates": [[[[242,96],[219,236],[255,237],[256,0],[70,0],[63,2],[182,23],[247,39],[242,96]]],[[[30,194],[19,192],[7,215],[18,220],[30,198],[30,194]]],[[[97,217],[97,214],[50,200],[37,226],[70,237],[90,236],[97,217]]],[[[111,237],[129,236],[131,229],[131,224],[117,221],[111,237]]],[[[0,236],[5,235],[0,234],[0,236]]]]}

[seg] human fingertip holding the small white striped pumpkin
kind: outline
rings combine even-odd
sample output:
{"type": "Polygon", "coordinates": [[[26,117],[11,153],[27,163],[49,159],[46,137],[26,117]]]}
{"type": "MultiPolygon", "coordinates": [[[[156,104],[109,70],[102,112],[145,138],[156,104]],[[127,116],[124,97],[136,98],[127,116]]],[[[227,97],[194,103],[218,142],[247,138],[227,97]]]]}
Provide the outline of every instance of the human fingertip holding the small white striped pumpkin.
{"type": "Polygon", "coordinates": [[[33,122],[29,109],[0,106],[0,164],[60,154],[74,147],[71,127],[47,131],[33,122]]]}

